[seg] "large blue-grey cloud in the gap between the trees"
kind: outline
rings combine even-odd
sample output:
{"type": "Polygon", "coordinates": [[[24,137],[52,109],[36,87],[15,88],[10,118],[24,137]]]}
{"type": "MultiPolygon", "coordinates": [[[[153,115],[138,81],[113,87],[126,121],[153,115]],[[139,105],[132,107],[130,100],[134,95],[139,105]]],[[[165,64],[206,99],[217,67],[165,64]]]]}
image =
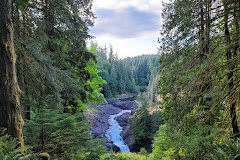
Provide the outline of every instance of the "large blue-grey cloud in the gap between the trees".
{"type": "Polygon", "coordinates": [[[108,33],[116,38],[127,39],[160,28],[158,15],[132,7],[123,10],[98,9],[96,15],[95,26],[91,28],[91,33],[95,36],[108,33]]]}

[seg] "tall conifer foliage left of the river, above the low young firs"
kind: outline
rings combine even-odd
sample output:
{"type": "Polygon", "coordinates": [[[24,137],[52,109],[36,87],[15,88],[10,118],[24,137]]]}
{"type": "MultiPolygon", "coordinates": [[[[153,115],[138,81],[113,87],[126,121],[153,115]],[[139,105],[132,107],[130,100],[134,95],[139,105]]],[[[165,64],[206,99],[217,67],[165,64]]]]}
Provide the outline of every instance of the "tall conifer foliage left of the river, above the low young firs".
{"type": "Polygon", "coordinates": [[[86,49],[91,37],[88,27],[94,19],[92,2],[15,3],[24,6],[14,11],[18,80],[24,95],[37,106],[51,95],[47,104],[53,108],[75,105],[76,101],[80,107],[102,102],[98,85],[104,82],[97,76],[96,53],[86,49]]]}

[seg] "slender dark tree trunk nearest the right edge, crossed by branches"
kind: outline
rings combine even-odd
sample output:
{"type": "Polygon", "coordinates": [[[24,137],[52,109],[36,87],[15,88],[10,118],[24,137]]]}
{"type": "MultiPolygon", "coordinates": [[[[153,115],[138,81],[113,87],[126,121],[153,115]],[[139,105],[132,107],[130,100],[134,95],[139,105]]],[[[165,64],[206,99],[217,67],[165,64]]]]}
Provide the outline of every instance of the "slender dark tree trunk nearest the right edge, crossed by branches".
{"type": "MultiPolygon", "coordinates": [[[[230,33],[229,33],[229,27],[228,27],[228,14],[229,14],[229,8],[227,5],[226,0],[223,1],[223,6],[224,6],[224,34],[225,34],[225,46],[226,46],[226,57],[227,60],[232,59],[232,53],[231,53],[231,39],[230,39],[230,33]]],[[[227,73],[227,78],[228,78],[228,92],[230,93],[233,88],[233,70],[234,70],[234,65],[229,64],[228,66],[228,73],[227,73]]],[[[239,129],[238,129],[238,123],[237,123],[237,116],[236,116],[236,102],[230,102],[230,116],[231,116],[231,124],[232,124],[232,129],[233,129],[233,134],[234,137],[239,137],[239,129]]]]}

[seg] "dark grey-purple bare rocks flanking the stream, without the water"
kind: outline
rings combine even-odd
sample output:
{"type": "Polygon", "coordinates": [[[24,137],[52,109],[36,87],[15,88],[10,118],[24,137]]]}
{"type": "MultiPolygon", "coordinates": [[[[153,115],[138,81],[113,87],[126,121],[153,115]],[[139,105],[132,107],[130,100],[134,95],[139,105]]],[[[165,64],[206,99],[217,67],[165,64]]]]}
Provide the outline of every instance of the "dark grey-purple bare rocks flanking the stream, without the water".
{"type": "MultiPolygon", "coordinates": [[[[129,98],[130,96],[127,96],[129,98]]],[[[133,101],[120,101],[119,99],[107,100],[108,104],[98,105],[97,107],[90,106],[92,109],[98,109],[97,114],[91,114],[91,127],[90,131],[92,138],[106,138],[106,132],[110,127],[109,118],[110,115],[115,115],[121,112],[122,110],[133,110],[136,106],[136,103],[133,101]]],[[[123,128],[121,136],[125,144],[130,148],[130,151],[134,151],[135,142],[131,138],[131,130],[128,124],[130,113],[124,113],[123,115],[116,117],[115,119],[119,125],[123,128]]],[[[105,141],[105,146],[108,150],[112,149],[113,151],[119,151],[119,148],[113,144],[111,140],[105,141]]]]}

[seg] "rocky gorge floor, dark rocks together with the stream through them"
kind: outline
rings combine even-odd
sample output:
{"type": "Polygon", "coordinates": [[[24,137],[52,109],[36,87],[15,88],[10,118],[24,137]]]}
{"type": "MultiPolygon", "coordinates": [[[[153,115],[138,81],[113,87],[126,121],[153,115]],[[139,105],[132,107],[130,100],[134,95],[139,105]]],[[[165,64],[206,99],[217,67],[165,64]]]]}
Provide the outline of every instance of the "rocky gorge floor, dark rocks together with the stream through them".
{"type": "MultiPolygon", "coordinates": [[[[131,98],[136,95],[127,95],[125,98],[131,98]]],[[[131,138],[131,130],[128,119],[131,110],[136,107],[134,101],[123,101],[125,99],[107,99],[108,104],[100,104],[97,107],[90,106],[91,109],[97,109],[97,114],[91,114],[91,134],[92,138],[105,138],[107,150],[135,151],[135,141],[131,138]],[[126,144],[126,145],[125,145],[126,144]]]]}

